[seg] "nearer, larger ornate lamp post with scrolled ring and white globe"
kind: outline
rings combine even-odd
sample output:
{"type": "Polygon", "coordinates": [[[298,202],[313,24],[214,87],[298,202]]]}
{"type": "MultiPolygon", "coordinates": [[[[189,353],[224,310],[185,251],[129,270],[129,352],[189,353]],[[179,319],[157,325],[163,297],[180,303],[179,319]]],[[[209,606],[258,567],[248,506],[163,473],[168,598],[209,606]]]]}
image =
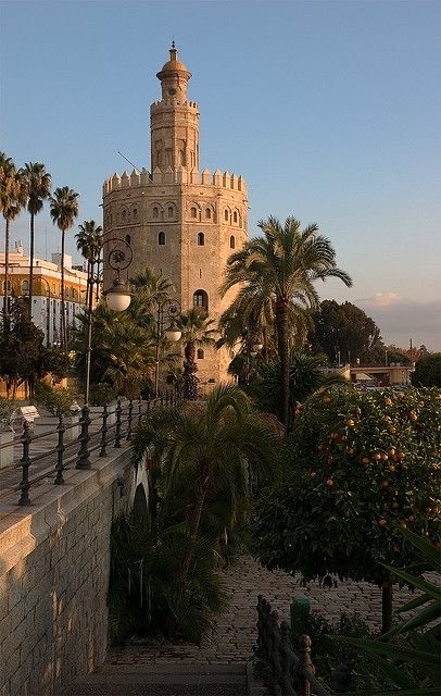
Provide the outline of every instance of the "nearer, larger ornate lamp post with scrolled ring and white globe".
{"type": "MultiPolygon", "coordinates": [[[[131,247],[128,241],[124,239],[108,239],[104,241],[104,254],[106,251],[106,263],[112,271],[116,272],[111,287],[103,291],[106,304],[109,309],[115,312],[123,312],[130,304],[131,293],[128,289],[126,283],[121,277],[121,272],[128,269],[134,258],[131,247]]],[[[98,259],[94,259],[94,263],[98,265],[98,259]]],[[[88,321],[87,321],[87,349],[86,349],[86,389],[85,389],[85,406],[89,405],[89,389],[90,389],[90,357],[92,351],[92,299],[93,299],[93,285],[99,285],[101,278],[99,273],[90,276],[87,281],[89,283],[88,294],[88,321]]]]}

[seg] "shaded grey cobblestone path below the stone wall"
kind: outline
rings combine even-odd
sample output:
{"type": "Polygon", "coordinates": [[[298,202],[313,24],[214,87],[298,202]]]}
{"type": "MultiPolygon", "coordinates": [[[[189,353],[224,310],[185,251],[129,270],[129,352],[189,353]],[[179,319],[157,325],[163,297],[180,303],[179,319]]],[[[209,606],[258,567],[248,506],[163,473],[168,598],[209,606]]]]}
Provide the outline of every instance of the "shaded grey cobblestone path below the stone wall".
{"type": "MultiPolygon", "coordinates": [[[[302,587],[295,577],[281,571],[268,571],[250,557],[241,557],[224,573],[231,596],[226,614],[219,618],[212,638],[200,648],[189,644],[152,646],[138,643],[124,648],[112,648],[104,666],[106,671],[134,671],[142,664],[234,663],[247,662],[256,639],[257,595],[263,595],[289,619],[289,605],[294,597],[308,597],[311,607],[328,619],[338,619],[341,611],[356,611],[378,629],[381,618],[381,592],[367,583],[342,582],[325,589],[318,583],[302,587]]],[[[395,591],[396,606],[411,596],[408,591],[395,591]]]]}

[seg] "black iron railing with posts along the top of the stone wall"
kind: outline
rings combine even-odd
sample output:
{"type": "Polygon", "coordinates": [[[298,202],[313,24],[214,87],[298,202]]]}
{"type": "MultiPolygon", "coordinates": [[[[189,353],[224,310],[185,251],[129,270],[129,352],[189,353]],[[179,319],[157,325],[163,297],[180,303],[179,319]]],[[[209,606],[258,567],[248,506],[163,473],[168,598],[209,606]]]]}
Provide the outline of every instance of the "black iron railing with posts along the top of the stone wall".
{"type": "MultiPolygon", "coordinates": [[[[97,414],[91,414],[89,407],[85,405],[76,422],[67,424],[66,419],[60,417],[56,427],[41,433],[35,433],[32,425],[24,421],[18,443],[15,438],[15,447],[21,446],[22,457],[20,462],[14,464],[15,469],[22,470],[22,481],[15,484],[7,483],[7,490],[10,492],[12,488],[20,493],[18,505],[30,505],[29,490],[33,486],[50,480],[51,476],[54,476],[54,484],[63,485],[64,472],[67,469],[88,470],[91,468],[90,458],[93,453],[106,457],[109,447],[121,448],[123,439],[130,439],[136,424],[150,409],[158,406],[178,406],[181,400],[181,393],[178,390],[161,394],[154,399],[124,402],[117,399],[116,405],[104,406],[97,414]],[[72,437],[67,442],[66,433],[78,426],[78,437],[72,437]],[[41,450],[39,452],[35,451],[37,444],[41,450]]],[[[11,443],[0,445],[0,449],[8,447],[11,447],[11,443]]]]}

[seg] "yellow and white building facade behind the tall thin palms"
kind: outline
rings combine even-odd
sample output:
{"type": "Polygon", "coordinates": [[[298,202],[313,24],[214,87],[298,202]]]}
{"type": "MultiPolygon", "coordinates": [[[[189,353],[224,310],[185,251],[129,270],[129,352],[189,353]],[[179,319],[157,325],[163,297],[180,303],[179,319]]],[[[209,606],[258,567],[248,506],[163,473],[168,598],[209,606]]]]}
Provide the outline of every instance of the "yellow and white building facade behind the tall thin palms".
{"type": "MultiPolygon", "coordinates": [[[[15,251],[9,253],[8,288],[4,281],[4,251],[0,252],[0,309],[3,308],[4,293],[8,303],[12,297],[29,294],[30,259],[18,243],[15,251]]],[[[64,295],[67,326],[75,323],[75,316],[84,309],[87,289],[87,273],[72,265],[72,257],[64,254],[64,295]]],[[[34,259],[33,321],[45,333],[48,346],[60,343],[61,323],[61,253],[52,253],[52,261],[34,259]]]]}

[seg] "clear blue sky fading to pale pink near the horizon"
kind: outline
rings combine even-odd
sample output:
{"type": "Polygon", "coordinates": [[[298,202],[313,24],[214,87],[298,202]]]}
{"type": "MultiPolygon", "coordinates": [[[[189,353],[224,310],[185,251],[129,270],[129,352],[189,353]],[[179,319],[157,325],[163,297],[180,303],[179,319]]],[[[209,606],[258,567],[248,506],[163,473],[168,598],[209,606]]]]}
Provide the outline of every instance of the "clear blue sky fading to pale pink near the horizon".
{"type": "MultiPolygon", "coordinates": [[[[387,341],[441,350],[441,2],[0,0],[0,149],[79,191],[78,223],[101,220],[118,150],[150,167],[175,38],[201,169],[247,179],[250,235],[269,214],[317,222],[354,279],[322,297],[362,307],[387,341]]],[[[11,236],[28,247],[26,215],[11,236]]],[[[43,212],[37,252],[59,244],[43,212]]]]}

